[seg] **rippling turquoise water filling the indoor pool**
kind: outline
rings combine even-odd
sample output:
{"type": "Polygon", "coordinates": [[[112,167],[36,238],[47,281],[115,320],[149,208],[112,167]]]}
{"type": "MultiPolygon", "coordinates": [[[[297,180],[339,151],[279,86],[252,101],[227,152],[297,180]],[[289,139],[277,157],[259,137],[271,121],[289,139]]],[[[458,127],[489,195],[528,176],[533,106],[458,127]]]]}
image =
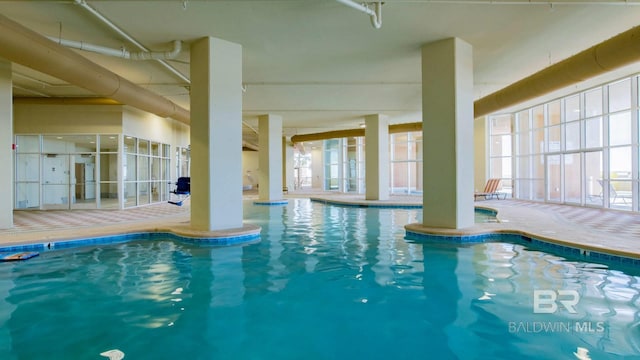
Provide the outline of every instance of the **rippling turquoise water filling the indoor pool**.
{"type": "Polygon", "coordinates": [[[633,269],[405,239],[421,216],[245,203],[259,243],[137,240],[0,263],[0,358],[640,359],[633,269]],[[534,290],[557,295],[555,313],[534,311],[534,290]]]}

